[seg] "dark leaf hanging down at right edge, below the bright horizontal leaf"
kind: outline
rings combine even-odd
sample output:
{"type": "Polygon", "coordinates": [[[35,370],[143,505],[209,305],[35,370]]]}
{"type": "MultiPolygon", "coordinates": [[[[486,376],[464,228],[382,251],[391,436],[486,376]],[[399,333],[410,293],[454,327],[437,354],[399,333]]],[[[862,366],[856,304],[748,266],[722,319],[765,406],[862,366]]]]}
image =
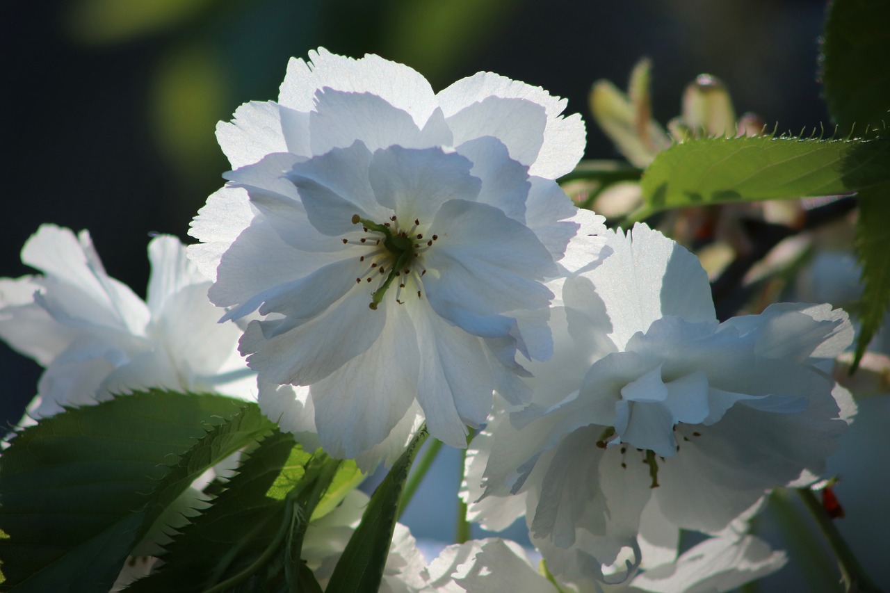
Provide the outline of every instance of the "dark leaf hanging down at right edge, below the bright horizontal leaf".
{"type": "Polygon", "coordinates": [[[890,304],[890,183],[859,192],[859,219],[856,223],[856,254],[862,265],[865,287],[859,303],[862,327],[856,342],[855,370],[872,337],[884,323],[890,304]]]}

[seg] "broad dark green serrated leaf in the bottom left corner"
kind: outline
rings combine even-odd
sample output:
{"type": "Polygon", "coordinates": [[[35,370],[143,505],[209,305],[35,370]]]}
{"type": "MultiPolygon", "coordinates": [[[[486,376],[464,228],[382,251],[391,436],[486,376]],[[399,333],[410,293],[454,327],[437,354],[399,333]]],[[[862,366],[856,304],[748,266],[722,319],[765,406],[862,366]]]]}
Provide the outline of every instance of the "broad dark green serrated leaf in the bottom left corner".
{"type": "Polygon", "coordinates": [[[26,428],[0,459],[3,588],[108,591],[163,510],[271,426],[252,403],[152,390],[26,428]]]}

